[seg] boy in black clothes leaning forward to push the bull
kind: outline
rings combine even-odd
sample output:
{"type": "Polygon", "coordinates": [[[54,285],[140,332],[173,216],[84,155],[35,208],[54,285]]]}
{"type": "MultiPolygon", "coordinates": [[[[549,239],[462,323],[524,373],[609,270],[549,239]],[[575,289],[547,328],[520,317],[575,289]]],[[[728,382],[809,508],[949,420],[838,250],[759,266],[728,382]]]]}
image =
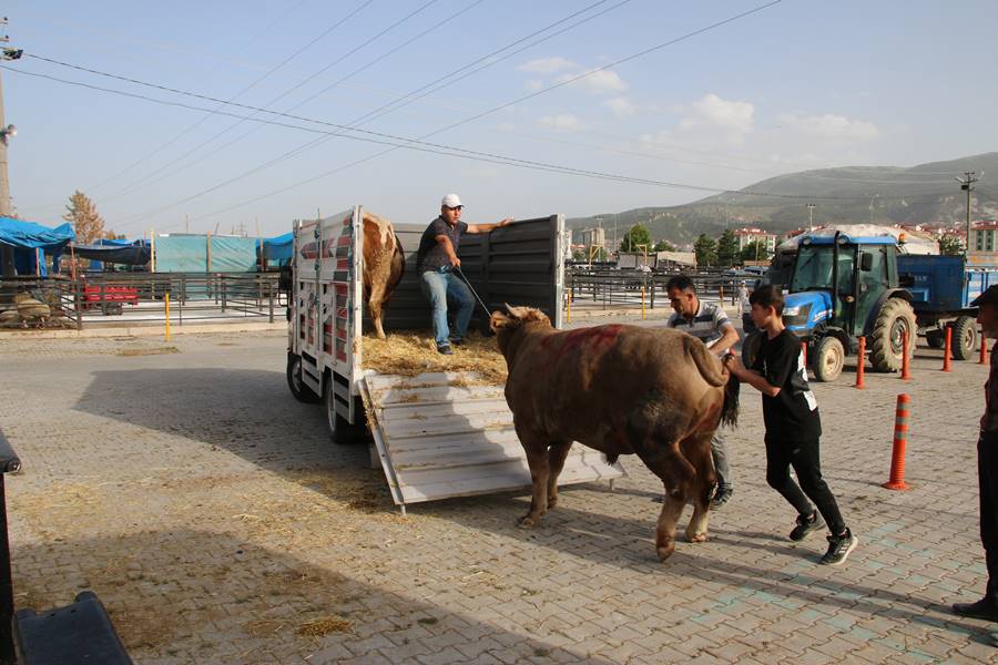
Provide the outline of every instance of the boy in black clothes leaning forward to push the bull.
{"type": "Polygon", "coordinates": [[[758,356],[751,369],[735,356],[727,356],[726,364],[732,375],[763,393],[766,482],[797,509],[797,524],[791,531],[791,540],[804,540],[827,523],[832,534],[821,563],[841,565],[859,539],[845,525],[835,497],[822,478],[818,452],[822,420],[807,386],[801,340],[783,325],[783,295],[778,288],[762,286],[752,293],[748,301],[752,319],[764,332],[758,356]],[[800,487],[791,478],[791,467],[800,487]]]}

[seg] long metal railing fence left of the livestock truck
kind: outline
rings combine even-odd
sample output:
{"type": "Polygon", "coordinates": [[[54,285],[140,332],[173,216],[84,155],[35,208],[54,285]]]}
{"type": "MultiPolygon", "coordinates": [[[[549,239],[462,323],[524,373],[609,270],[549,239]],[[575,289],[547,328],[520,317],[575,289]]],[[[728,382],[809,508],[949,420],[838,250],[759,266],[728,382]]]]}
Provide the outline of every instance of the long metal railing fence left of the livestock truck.
{"type": "Polygon", "coordinates": [[[0,280],[4,327],[81,329],[88,324],[165,323],[167,316],[181,326],[234,318],[274,323],[286,306],[277,273],[96,273],[78,279],[0,280]],[[24,307],[26,299],[48,305],[49,315],[39,316],[42,307],[24,307]]]}

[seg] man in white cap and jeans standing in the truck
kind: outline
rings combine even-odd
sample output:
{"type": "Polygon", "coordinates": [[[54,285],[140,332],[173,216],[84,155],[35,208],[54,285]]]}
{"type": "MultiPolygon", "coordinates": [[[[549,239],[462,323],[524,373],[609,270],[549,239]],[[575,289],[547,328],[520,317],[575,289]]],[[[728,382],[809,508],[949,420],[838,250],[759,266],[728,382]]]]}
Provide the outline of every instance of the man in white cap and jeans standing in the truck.
{"type": "Polygon", "coordinates": [[[454,352],[451,345],[462,344],[475,309],[471,289],[454,273],[461,266],[461,259],[457,257],[461,235],[489,233],[512,223],[512,218],[507,217],[496,224],[466,224],[461,222],[462,208],[457,194],[445,196],[440,202],[440,216],[422,232],[416,254],[419,286],[434,307],[434,341],[437,344],[437,351],[445,356],[454,352]],[[454,335],[447,325],[448,298],[457,309],[454,335]]]}

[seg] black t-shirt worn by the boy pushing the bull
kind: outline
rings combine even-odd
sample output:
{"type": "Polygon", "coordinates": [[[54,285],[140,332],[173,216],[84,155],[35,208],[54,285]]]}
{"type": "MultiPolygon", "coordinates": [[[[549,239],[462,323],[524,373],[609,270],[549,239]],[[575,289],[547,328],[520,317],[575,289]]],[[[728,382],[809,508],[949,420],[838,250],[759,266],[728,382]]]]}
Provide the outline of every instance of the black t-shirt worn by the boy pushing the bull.
{"type": "Polygon", "coordinates": [[[822,419],[817,401],[807,386],[801,340],[784,329],[773,339],[763,332],[758,356],[752,369],[765,377],[780,395],[763,395],[763,420],[766,438],[774,440],[817,439],[822,436],[822,419]]]}

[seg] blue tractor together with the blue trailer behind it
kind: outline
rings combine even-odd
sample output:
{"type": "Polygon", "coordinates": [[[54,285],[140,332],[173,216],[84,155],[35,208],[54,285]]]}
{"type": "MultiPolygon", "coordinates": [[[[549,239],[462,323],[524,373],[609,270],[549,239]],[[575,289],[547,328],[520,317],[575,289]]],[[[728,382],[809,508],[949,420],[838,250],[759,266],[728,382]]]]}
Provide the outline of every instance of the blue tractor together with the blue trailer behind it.
{"type": "MultiPolygon", "coordinates": [[[[943,344],[954,330],[954,357],[967,359],[977,344],[969,301],[995,283],[998,268],[968,266],[963,257],[903,254],[894,236],[808,235],[795,254],[777,255],[776,273],[786,286],[783,320],[807,344],[807,359],[818,381],[833,381],[845,357],[866,338],[876,371],[897,371],[904,338],[908,355],[916,335],[943,344]]],[[[744,345],[751,360],[757,339],[744,345]]]]}

